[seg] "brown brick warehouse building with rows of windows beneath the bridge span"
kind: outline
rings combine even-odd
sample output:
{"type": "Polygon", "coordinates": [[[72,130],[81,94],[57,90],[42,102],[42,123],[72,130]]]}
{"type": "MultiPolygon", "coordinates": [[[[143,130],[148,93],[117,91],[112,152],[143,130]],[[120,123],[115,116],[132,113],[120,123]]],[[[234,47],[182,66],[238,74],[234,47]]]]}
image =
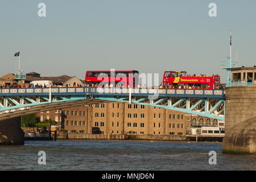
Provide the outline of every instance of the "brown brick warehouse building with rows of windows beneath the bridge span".
{"type": "Polygon", "coordinates": [[[108,102],[68,107],[39,113],[44,118],[58,120],[69,134],[173,135],[185,136],[191,127],[223,126],[216,119],[200,117],[158,107],[108,102]],[[47,115],[48,112],[48,115],[47,115]],[[51,114],[52,113],[52,114],[51,114]]]}

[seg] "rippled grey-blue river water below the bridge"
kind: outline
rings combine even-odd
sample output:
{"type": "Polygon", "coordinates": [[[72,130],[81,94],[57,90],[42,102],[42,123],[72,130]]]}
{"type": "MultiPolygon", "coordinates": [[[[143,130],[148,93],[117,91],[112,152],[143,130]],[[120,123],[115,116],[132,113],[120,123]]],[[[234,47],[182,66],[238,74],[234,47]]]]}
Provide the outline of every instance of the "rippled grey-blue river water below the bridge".
{"type": "Polygon", "coordinates": [[[256,156],[222,154],[222,143],[135,140],[25,141],[0,146],[0,170],[256,170],[256,156]],[[39,151],[46,164],[38,164],[39,151]],[[216,151],[217,164],[209,164],[216,151]]]}

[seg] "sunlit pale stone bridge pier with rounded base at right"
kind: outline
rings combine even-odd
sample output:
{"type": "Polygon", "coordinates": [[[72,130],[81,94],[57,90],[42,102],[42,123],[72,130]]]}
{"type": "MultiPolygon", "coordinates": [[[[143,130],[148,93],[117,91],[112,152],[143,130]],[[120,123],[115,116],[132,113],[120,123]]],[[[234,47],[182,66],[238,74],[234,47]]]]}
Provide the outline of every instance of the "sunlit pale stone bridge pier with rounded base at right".
{"type": "Polygon", "coordinates": [[[256,154],[256,85],[226,89],[223,153],[256,154]]]}

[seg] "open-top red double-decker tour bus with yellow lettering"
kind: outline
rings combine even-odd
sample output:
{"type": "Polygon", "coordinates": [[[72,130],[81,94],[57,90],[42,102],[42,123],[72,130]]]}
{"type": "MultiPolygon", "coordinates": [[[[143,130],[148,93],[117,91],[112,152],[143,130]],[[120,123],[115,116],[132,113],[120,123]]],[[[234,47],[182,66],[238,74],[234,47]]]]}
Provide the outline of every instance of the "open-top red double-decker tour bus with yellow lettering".
{"type": "Polygon", "coordinates": [[[218,89],[220,76],[190,76],[184,71],[166,71],[163,76],[163,88],[218,89]]]}

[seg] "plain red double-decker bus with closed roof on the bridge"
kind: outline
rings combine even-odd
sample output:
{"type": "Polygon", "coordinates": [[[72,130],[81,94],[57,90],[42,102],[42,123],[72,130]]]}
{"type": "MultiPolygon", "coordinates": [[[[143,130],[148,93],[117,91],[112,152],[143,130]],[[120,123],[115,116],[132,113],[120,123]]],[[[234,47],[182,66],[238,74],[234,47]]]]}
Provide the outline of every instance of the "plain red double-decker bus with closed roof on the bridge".
{"type": "Polygon", "coordinates": [[[86,71],[85,83],[100,87],[137,88],[138,77],[138,71],[86,71]]]}

